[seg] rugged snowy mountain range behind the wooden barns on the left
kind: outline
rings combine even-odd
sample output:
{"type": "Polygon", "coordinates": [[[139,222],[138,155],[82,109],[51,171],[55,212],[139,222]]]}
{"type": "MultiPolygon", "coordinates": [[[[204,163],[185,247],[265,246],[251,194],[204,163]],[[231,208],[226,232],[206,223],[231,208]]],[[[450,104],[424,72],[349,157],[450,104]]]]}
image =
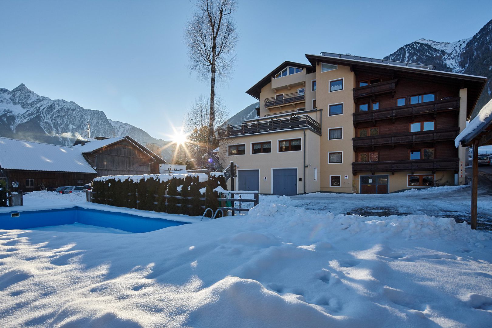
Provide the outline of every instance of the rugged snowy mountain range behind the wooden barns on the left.
{"type": "Polygon", "coordinates": [[[85,109],[62,99],[40,96],[24,84],[13,90],[0,88],[0,136],[56,145],[73,145],[79,136],[128,135],[142,143],[167,144],[131,124],[108,119],[104,112],[85,109]]]}

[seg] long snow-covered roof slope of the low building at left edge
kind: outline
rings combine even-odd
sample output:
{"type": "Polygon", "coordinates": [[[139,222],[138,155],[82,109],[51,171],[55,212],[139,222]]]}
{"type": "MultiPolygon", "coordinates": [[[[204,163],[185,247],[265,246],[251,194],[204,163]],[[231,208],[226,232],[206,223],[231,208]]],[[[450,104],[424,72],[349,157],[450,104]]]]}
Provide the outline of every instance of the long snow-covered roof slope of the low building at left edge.
{"type": "Polygon", "coordinates": [[[12,170],[97,173],[79,149],[1,137],[0,167],[12,170]]]}

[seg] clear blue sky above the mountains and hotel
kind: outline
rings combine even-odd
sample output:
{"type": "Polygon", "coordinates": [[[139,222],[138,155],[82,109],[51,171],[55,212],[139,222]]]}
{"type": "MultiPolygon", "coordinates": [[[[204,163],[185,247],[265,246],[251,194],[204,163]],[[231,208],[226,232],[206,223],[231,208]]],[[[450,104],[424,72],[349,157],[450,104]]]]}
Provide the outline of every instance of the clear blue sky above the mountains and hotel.
{"type": "MultiPolygon", "coordinates": [[[[218,85],[231,114],[245,91],[284,60],[321,51],[382,58],[421,37],[456,41],[492,19],[492,1],[239,0],[241,39],[232,79],[218,85]]],[[[0,87],[21,83],[169,139],[195,97],[208,94],[188,69],[183,42],[192,2],[0,3],[0,87]]]]}

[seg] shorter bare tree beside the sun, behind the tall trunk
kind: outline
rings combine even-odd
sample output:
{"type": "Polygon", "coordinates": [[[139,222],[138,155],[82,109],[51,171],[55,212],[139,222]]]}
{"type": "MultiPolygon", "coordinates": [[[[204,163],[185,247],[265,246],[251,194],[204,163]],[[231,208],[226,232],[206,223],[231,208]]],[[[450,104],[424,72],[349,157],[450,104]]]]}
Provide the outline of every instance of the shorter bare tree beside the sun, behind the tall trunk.
{"type": "Polygon", "coordinates": [[[210,103],[207,97],[198,97],[188,108],[184,120],[184,128],[188,132],[188,140],[190,141],[186,148],[190,152],[188,155],[196,159],[195,164],[197,166],[206,165],[206,160],[203,160],[202,156],[212,152],[224,141],[224,139],[217,138],[218,129],[223,127],[229,118],[229,110],[224,105],[222,98],[220,96],[215,97],[215,115],[212,120],[213,130],[211,131],[209,128],[211,121],[209,108],[210,103]],[[212,142],[209,139],[210,135],[212,135],[212,142]]]}

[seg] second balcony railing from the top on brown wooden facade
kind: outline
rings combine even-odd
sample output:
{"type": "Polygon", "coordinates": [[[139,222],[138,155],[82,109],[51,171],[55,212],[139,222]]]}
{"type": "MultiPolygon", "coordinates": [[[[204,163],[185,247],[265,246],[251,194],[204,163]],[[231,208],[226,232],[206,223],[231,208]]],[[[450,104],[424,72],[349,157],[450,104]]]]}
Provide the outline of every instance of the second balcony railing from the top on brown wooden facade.
{"type": "Polygon", "coordinates": [[[394,119],[397,117],[413,116],[418,114],[434,114],[448,110],[460,109],[460,98],[449,98],[444,100],[429,101],[420,104],[412,104],[398,107],[390,107],[367,112],[353,114],[354,124],[359,122],[370,122],[381,119],[394,119]]]}

